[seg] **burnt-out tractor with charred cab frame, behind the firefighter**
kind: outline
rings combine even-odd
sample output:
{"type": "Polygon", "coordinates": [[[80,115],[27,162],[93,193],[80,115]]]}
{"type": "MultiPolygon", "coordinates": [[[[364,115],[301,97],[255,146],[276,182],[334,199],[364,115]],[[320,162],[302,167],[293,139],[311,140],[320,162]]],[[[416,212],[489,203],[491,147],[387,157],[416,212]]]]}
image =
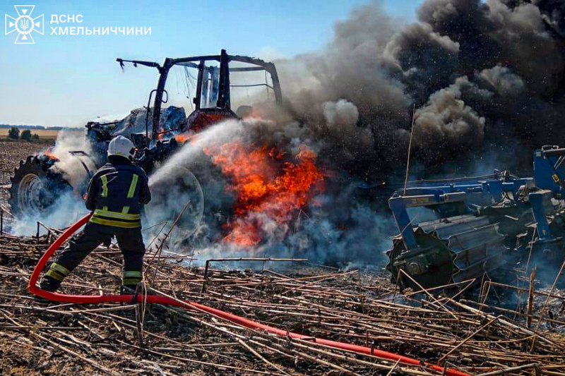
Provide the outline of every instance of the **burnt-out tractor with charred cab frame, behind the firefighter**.
{"type": "MultiPolygon", "coordinates": [[[[226,119],[242,119],[251,114],[254,103],[268,100],[280,104],[283,100],[273,63],[228,55],[223,49],[219,55],[167,58],[162,65],[124,59],[117,62],[122,69],[125,63],[157,69],[157,88],[150,91],[147,107],[135,109],[119,121],[86,125],[85,137],[91,152],[70,152],[76,159],[73,165],[82,169],[78,181],[67,178],[66,161],[49,152],[20,161],[11,177],[9,198],[16,217],[34,218],[49,211],[61,193],[73,190],[82,195],[90,176],[105,164],[108,143],[116,135],[132,140],[136,145],[133,163],[150,174],[208,126],[226,119]],[[172,73],[176,80],[170,78],[172,73]]],[[[188,169],[183,174],[192,176],[192,187],[184,188],[201,192],[198,178],[188,169]]],[[[162,194],[167,195],[167,188],[162,194]]]]}

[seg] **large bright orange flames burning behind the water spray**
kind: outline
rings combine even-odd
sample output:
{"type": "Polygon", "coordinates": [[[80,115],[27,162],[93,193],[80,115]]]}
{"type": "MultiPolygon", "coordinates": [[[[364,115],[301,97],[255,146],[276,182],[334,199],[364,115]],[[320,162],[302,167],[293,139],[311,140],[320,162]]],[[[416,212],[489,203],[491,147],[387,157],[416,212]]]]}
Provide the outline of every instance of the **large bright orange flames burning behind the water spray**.
{"type": "Polygon", "coordinates": [[[316,154],[302,145],[296,162],[283,162],[285,154],[274,148],[246,147],[228,142],[208,147],[206,154],[232,183],[227,190],[237,198],[235,219],[225,241],[256,245],[263,239],[263,226],[286,224],[297,210],[323,190],[323,172],[316,154]]]}

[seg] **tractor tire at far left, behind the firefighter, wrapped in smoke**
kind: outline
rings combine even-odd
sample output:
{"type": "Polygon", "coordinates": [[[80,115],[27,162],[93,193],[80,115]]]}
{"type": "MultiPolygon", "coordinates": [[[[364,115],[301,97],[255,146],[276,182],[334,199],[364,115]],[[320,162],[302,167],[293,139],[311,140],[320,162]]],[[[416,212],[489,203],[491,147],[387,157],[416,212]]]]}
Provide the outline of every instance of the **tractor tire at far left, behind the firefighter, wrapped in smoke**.
{"type": "Polygon", "coordinates": [[[61,193],[72,190],[61,174],[51,170],[57,161],[45,154],[30,155],[25,162],[20,160],[19,168],[13,170],[10,178],[8,204],[14,217],[39,217],[61,193]]]}

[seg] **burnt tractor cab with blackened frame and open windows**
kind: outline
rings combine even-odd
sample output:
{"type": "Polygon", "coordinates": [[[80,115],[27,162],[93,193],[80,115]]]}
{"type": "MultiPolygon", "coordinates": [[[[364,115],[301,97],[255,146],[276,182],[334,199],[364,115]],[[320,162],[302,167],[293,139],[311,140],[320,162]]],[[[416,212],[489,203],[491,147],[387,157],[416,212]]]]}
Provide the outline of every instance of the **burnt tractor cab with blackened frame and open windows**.
{"type": "Polygon", "coordinates": [[[225,119],[242,119],[253,113],[254,104],[282,102],[275,65],[249,56],[191,56],[165,59],[162,66],[149,61],[117,59],[134,66],[157,68],[157,89],[150,92],[145,137],[156,142],[179,133],[198,133],[225,119]],[[169,121],[165,112],[180,121],[169,121]],[[180,114],[180,115],[179,115],[180,114]]]}

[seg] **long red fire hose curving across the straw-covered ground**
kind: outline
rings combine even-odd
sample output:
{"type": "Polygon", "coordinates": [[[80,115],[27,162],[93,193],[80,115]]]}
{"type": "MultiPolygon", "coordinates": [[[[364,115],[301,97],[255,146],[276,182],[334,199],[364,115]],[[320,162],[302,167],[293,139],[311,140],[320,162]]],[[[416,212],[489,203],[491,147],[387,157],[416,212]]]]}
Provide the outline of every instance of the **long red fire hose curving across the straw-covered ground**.
{"type": "Polygon", "coordinates": [[[51,245],[49,245],[49,248],[47,248],[47,251],[45,251],[45,253],[40,258],[40,261],[37,262],[37,265],[35,265],[35,269],[33,269],[33,274],[30,278],[30,283],[28,284],[28,289],[30,293],[33,293],[36,296],[40,296],[41,298],[45,298],[50,301],[59,301],[66,303],[133,303],[133,301],[142,303],[142,301],[145,301],[146,303],[176,305],[186,309],[194,308],[196,310],[205,311],[206,313],[209,313],[216,317],[220,317],[224,320],[233,322],[234,324],[242,325],[243,327],[247,327],[249,329],[264,330],[266,332],[276,334],[283,338],[290,337],[291,339],[292,338],[307,339],[309,341],[312,341],[313,343],[330,346],[333,348],[338,348],[340,350],[352,351],[355,353],[376,356],[377,358],[394,360],[397,361],[398,363],[404,363],[406,365],[421,365],[424,366],[425,368],[428,368],[429,370],[434,370],[437,372],[445,372],[444,375],[448,375],[448,376],[469,376],[465,372],[460,372],[458,370],[454,370],[451,368],[444,368],[441,367],[440,365],[434,365],[431,363],[424,362],[423,360],[410,358],[408,356],[402,356],[396,353],[390,353],[388,351],[378,350],[376,348],[359,346],[355,344],[347,344],[345,342],[332,341],[329,339],[312,338],[311,336],[305,336],[303,334],[288,332],[287,330],[270,327],[268,325],[261,324],[260,322],[248,320],[244,317],[240,317],[232,313],[228,313],[222,310],[218,310],[216,308],[208,307],[208,305],[203,305],[192,301],[177,301],[167,296],[157,296],[157,295],[143,296],[141,294],[103,295],[103,296],[66,295],[62,293],[52,293],[37,287],[36,286],[37,279],[39,279],[40,273],[47,264],[47,261],[49,261],[49,257],[51,257],[53,253],[55,253],[55,251],[59,249],[59,247],[61,247],[61,245],[71,235],[73,235],[78,229],[80,229],[84,224],[86,224],[86,222],[88,222],[88,220],[90,219],[91,215],[92,214],[88,214],[85,215],[85,217],[79,219],[78,222],[76,222],[68,229],[66,229],[66,231],[64,231],[63,234],[59,236],[59,238],[57,238],[51,245]]]}

